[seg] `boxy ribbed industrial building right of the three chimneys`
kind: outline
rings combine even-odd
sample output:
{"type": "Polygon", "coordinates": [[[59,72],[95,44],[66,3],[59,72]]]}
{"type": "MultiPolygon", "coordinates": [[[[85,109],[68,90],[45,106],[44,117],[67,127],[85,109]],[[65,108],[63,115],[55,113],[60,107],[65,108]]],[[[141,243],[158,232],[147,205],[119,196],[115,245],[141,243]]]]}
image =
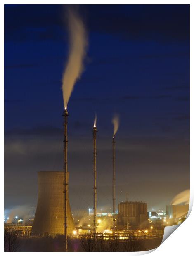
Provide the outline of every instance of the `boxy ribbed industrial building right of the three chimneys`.
{"type": "Polygon", "coordinates": [[[125,201],[118,204],[118,224],[139,226],[147,222],[147,203],[142,201],[125,201]]]}

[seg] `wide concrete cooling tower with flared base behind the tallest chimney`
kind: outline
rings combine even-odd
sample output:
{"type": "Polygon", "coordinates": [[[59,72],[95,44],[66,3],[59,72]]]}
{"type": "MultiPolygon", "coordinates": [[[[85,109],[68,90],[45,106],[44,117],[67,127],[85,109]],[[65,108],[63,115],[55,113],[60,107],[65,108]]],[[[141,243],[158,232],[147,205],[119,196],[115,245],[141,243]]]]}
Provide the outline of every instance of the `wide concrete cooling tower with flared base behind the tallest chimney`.
{"type": "MultiPolygon", "coordinates": [[[[69,172],[67,182],[69,181],[69,172]]],[[[31,235],[64,235],[64,172],[38,172],[38,204],[31,235]]],[[[67,195],[67,233],[75,230],[67,195]]]]}

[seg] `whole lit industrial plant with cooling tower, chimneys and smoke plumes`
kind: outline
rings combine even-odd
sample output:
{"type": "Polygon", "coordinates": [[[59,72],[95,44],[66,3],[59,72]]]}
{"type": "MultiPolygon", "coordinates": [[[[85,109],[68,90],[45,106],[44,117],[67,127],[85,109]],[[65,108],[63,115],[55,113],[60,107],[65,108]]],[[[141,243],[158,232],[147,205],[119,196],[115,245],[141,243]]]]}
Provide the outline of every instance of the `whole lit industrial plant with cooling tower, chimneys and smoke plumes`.
{"type": "MultiPolygon", "coordinates": [[[[152,211],[148,211],[146,201],[129,201],[126,198],[126,201],[120,201],[117,203],[118,205],[116,205],[116,199],[118,196],[116,191],[116,174],[118,172],[116,169],[115,136],[119,127],[118,115],[115,115],[112,119],[113,136],[109,136],[109,148],[112,150],[112,162],[111,160],[109,161],[111,162],[112,173],[107,184],[111,184],[110,190],[112,190],[112,195],[108,200],[110,201],[110,204],[112,204],[112,208],[109,208],[111,209],[109,210],[109,213],[97,213],[99,210],[97,209],[97,206],[99,205],[97,190],[98,138],[96,125],[97,116],[95,116],[91,135],[91,147],[93,147],[90,151],[91,156],[93,155],[93,158],[90,161],[91,164],[93,161],[93,168],[90,170],[91,176],[93,174],[93,186],[91,185],[91,192],[89,192],[93,199],[93,209],[91,209],[92,213],[90,213],[90,209],[85,209],[86,213],[84,214],[87,215],[87,218],[86,220],[84,219],[85,222],[82,224],[79,223],[79,220],[75,221],[73,218],[70,206],[71,202],[69,201],[69,173],[71,173],[71,170],[69,171],[68,166],[68,102],[71,92],[73,91],[73,87],[83,71],[83,60],[88,46],[88,39],[82,19],[76,14],[76,12],[71,13],[69,11],[68,13],[70,25],[69,41],[71,45],[69,59],[62,78],[62,90],[64,97],[64,109],[62,116],[64,129],[61,134],[61,142],[63,141],[61,155],[63,155],[63,168],[61,168],[61,171],[38,172],[38,202],[35,216],[31,218],[30,223],[24,223],[24,216],[19,216],[21,218],[16,216],[14,223],[11,223],[11,221],[10,223],[7,222],[9,217],[7,220],[4,219],[5,237],[6,235],[8,238],[10,236],[16,239],[17,237],[20,237],[23,241],[27,237],[26,240],[28,240],[28,242],[35,241],[34,243],[36,244],[38,244],[37,241],[40,241],[41,239],[45,239],[45,241],[48,240],[48,244],[50,244],[52,239],[59,237],[62,241],[60,243],[62,244],[61,251],[66,252],[71,250],[76,251],[78,247],[81,247],[81,245],[84,249],[87,246],[90,247],[89,249],[85,249],[85,251],[98,251],[98,248],[100,248],[100,251],[103,251],[105,247],[107,251],[116,251],[119,246],[125,247],[123,247],[124,249],[122,249],[122,251],[143,251],[144,248],[141,247],[140,244],[145,244],[144,242],[147,242],[148,240],[149,243],[147,243],[146,249],[149,250],[152,247],[156,248],[163,239],[164,227],[166,225],[175,225],[180,221],[184,221],[189,210],[189,204],[168,205],[166,206],[166,213],[158,213],[154,211],[154,209],[152,209],[152,211]],[[154,242],[155,244],[153,241],[156,241],[154,242]],[[115,247],[116,245],[118,245],[117,248],[115,247]],[[136,246],[136,248],[134,248],[134,246],[136,246]],[[72,247],[74,248],[72,249],[72,247]]],[[[144,98],[144,96],[141,96],[141,98],[144,98]]],[[[154,98],[157,99],[158,96],[154,96],[154,98]]],[[[125,169],[127,170],[127,167],[125,169]]],[[[142,168],[142,170],[144,169],[142,168]]],[[[132,180],[131,173],[130,179],[132,180]]],[[[56,249],[58,247],[57,242],[55,241],[53,244],[54,249],[56,249]]]]}

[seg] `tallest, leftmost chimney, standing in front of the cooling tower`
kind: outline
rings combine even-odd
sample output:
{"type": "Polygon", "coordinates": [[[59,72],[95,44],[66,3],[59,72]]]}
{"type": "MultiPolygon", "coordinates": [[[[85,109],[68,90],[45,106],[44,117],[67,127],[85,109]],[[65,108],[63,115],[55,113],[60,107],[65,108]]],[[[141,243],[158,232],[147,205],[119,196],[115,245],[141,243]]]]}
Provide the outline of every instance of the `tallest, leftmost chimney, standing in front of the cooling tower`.
{"type": "Polygon", "coordinates": [[[65,241],[64,241],[64,251],[68,251],[67,248],[67,226],[68,226],[68,220],[67,220],[67,199],[68,199],[68,179],[67,179],[67,116],[69,116],[67,109],[64,110],[64,235],[65,235],[65,241]]]}

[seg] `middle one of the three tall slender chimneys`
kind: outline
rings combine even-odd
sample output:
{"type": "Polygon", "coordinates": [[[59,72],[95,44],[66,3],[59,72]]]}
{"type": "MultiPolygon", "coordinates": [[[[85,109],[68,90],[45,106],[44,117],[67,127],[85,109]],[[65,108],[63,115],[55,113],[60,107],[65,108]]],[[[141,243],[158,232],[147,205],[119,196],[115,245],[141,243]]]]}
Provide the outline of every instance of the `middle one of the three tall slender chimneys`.
{"type": "Polygon", "coordinates": [[[93,146],[94,146],[94,239],[96,239],[96,125],[93,127],[93,146]]]}

